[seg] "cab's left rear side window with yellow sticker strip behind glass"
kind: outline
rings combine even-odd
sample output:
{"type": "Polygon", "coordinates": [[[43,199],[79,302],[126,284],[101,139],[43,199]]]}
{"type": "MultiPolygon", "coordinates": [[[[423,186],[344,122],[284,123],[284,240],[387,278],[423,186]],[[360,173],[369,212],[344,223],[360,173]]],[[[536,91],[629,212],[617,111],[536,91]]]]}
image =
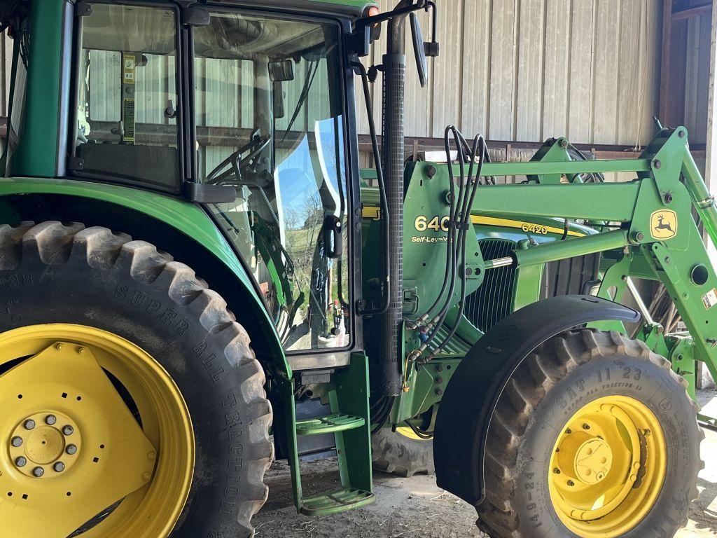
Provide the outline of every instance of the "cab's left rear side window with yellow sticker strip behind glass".
{"type": "Polygon", "coordinates": [[[92,4],[79,61],[75,169],[179,190],[174,11],[92,4]]]}

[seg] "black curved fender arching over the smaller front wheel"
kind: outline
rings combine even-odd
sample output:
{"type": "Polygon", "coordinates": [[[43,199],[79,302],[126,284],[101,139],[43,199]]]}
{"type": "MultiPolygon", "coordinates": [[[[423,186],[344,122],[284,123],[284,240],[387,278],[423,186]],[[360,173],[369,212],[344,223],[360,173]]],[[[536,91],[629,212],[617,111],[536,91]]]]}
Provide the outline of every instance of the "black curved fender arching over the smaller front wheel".
{"type": "Polygon", "coordinates": [[[483,502],[485,442],[498,398],[513,372],[544,341],[592,321],[640,321],[631,308],[582,295],[544,299],[493,326],[458,365],[438,406],[436,481],[473,505],[483,502]]]}

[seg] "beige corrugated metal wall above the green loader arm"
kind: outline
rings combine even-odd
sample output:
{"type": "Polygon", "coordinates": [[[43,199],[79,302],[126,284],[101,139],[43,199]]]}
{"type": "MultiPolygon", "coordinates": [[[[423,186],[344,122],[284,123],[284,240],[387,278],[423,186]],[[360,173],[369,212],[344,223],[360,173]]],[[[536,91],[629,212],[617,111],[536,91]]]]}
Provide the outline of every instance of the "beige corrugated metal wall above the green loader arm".
{"type": "MultiPolygon", "coordinates": [[[[656,0],[442,0],[429,87],[421,90],[409,69],[407,135],[442,137],[454,123],[493,140],[566,134],[575,143],[645,143],[657,109],[661,20],[656,0]]],[[[381,39],[370,62],[381,62],[384,47],[381,39]]],[[[376,119],[380,84],[379,75],[376,119]]]]}

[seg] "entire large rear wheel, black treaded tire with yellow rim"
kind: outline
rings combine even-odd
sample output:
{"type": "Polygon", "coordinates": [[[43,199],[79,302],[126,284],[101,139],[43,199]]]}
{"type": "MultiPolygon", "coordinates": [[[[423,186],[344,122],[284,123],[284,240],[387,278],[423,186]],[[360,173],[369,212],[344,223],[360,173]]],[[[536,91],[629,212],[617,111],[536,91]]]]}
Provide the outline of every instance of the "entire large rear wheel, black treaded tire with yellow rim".
{"type": "Polygon", "coordinates": [[[252,536],[272,412],[217,293],[153,245],[60,222],[0,225],[0,293],[3,536],[252,536]]]}

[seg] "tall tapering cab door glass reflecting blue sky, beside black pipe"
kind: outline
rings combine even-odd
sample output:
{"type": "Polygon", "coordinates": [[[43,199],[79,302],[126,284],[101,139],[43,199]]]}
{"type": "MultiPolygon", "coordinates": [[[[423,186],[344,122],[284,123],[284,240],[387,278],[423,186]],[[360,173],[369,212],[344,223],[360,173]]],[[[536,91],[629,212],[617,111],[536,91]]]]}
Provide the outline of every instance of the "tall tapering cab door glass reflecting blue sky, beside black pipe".
{"type": "Polygon", "coordinates": [[[290,350],[349,343],[339,36],[235,12],[195,29],[199,180],[237,190],[210,209],[290,350]]]}

